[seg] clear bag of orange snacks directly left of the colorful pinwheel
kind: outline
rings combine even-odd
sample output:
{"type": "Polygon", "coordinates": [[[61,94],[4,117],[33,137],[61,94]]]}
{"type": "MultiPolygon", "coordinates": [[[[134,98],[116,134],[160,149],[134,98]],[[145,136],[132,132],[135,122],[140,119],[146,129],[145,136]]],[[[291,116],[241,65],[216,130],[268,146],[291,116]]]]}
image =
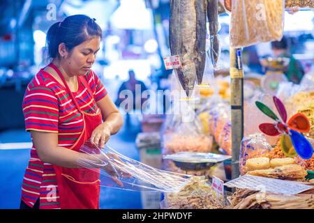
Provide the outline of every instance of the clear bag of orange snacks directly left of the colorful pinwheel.
{"type": "Polygon", "coordinates": [[[256,157],[269,157],[271,145],[262,133],[250,134],[241,141],[240,148],[240,174],[246,174],[246,160],[256,157]]]}

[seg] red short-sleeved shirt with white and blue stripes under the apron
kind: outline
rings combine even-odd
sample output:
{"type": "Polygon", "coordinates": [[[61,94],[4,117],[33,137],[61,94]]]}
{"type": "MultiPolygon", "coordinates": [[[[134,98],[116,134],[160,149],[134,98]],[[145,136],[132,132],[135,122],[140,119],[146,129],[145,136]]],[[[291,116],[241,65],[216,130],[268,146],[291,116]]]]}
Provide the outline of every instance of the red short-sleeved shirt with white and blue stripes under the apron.
{"type": "MultiPolygon", "coordinates": [[[[105,87],[92,70],[85,79],[91,92],[79,80],[77,92],[73,92],[82,111],[95,114],[98,107],[94,102],[107,95],[105,87]]],[[[83,130],[82,114],[77,110],[66,88],[51,75],[38,72],[27,86],[22,108],[26,130],[58,133],[58,145],[70,148],[83,130]]],[[[36,148],[31,148],[31,157],[24,174],[22,201],[33,206],[40,199],[40,208],[59,208],[57,179],[52,164],[44,163],[38,157],[36,148]]]]}

